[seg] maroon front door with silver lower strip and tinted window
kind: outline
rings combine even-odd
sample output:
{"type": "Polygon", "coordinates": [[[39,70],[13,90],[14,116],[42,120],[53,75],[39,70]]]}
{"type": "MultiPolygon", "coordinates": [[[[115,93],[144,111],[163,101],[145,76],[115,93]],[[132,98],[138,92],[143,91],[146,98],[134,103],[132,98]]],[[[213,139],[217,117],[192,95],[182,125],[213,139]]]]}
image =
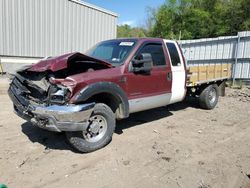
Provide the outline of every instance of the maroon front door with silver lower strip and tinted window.
{"type": "Polygon", "coordinates": [[[162,42],[145,42],[136,52],[149,53],[153,59],[150,74],[128,73],[127,93],[130,113],[152,109],[169,104],[171,98],[171,67],[166,61],[162,42]]]}

